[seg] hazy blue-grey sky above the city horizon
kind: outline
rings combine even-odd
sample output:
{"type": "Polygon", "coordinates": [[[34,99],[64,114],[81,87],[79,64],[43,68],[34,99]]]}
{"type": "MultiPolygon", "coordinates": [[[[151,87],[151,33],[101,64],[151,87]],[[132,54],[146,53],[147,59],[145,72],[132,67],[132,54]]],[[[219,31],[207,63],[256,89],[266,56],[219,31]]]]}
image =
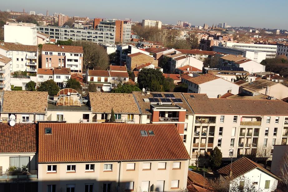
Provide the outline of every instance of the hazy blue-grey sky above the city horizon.
{"type": "Polygon", "coordinates": [[[287,0],[10,0],[1,2],[1,11],[36,13],[49,15],[55,12],[69,16],[132,18],[160,20],[176,24],[178,20],[192,25],[226,22],[234,27],[262,27],[288,29],[286,18],[287,0]]]}

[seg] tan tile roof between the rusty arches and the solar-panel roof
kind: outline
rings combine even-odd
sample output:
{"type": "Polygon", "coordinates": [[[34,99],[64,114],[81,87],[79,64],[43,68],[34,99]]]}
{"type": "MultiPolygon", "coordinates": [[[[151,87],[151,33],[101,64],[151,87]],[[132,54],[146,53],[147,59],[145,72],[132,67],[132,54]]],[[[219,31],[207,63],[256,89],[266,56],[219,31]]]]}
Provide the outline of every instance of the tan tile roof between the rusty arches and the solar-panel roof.
{"type": "Polygon", "coordinates": [[[90,105],[93,113],[115,113],[139,114],[133,94],[125,93],[89,93],[90,105]]]}

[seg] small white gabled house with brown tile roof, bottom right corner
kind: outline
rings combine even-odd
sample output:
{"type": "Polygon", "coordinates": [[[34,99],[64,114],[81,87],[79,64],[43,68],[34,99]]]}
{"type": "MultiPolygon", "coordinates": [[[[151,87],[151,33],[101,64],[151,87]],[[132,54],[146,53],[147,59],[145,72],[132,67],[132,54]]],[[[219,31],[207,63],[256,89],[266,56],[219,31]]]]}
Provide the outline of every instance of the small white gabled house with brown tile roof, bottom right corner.
{"type": "Polygon", "coordinates": [[[263,192],[276,190],[279,179],[276,175],[246,157],[242,157],[217,171],[220,173],[220,180],[230,182],[230,186],[254,185],[255,189],[263,192]],[[231,177],[233,179],[230,181],[231,177]]]}

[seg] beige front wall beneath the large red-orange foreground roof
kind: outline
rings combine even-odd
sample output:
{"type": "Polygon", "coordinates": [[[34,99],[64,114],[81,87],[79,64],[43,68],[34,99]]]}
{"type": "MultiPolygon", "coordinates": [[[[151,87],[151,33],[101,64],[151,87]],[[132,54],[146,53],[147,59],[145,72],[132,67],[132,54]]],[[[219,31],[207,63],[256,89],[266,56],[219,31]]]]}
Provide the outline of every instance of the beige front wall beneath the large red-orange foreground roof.
{"type": "MultiPolygon", "coordinates": [[[[106,163],[105,163],[106,164],[106,163]]],[[[102,191],[103,183],[112,183],[111,191],[117,190],[119,170],[120,184],[134,182],[134,191],[141,191],[142,181],[150,181],[150,187],[157,180],[164,180],[165,191],[186,189],[188,160],[111,162],[112,171],[103,171],[103,162],[94,163],[56,163],[38,165],[38,191],[47,191],[47,185],[57,185],[57,192],[65,191],[66,184],[75,184],[75,191],[84,191],[85,184],[93,184],[95,191],[102,191]],[[142,170],[143,163],[150,162],[151,170],[142,170]],[[158,162],[166,162],[165,170],[158,170],[158,162]],[[180,169],[172,169],[173,162],[181,162],[180,169]],[[135,163],[135,170],[127,170],[127,163],[135,163]],[[95,164],[93,172],[85,172],[86,164],[95,164]],[[121,164],[121,165],[120,165],[121,164]],[[47,173],[47,165],[57,165],[57,173],[47,173]],[[76,165],[76,172],[67,173],[67,165],[76,165]],[[179,188],[171,189],[171,180],[179,180],[179,188]]]]}

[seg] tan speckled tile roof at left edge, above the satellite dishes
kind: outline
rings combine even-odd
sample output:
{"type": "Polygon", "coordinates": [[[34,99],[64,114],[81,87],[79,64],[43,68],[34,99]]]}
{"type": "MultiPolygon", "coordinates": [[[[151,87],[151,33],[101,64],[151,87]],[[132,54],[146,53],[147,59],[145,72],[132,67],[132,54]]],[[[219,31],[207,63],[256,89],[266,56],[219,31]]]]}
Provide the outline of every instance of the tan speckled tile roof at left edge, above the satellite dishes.
{"type": "Polygon", "coordinates": [[[3,91],[3,113],[46,113],[48,92],[3,91]]]}

